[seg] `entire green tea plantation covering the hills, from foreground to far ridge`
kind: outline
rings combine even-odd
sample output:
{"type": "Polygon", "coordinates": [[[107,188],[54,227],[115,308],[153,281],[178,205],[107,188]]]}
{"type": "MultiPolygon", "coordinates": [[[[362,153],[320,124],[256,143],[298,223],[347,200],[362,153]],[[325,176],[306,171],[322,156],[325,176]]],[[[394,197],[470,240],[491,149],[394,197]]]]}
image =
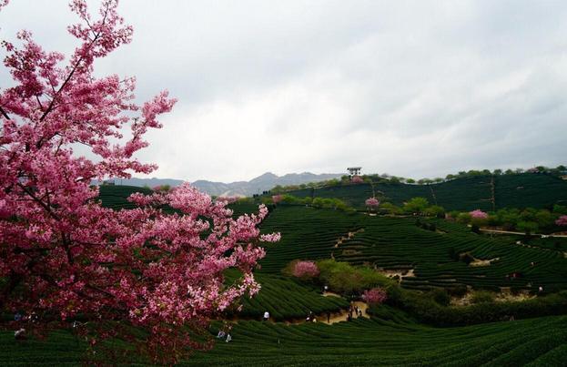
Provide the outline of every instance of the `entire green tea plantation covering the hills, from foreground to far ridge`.
{"type": "MultiPolygon", "coordinates": [[[[524,201],[517,201],[516,194],[521,190],[526,194],[525,202],[532,207],[567,197],[564,183],[554,179],[543,175],[496,178],[494,184],[501,188],[496,193],[496,203],[520,205],[524,201]],[[543,179],[552,179],[550,185],[556,184],[556,190],[543,193],[536,189],[543,179]],[[518,189],[520,185],[522,189],[518,189]]],[[[405,185],[405,191],[396,189],[400,185],[375,189],[382,190],[396,203],[415,196],[427,197],[428,190],[434,189],[439,204],[447,208],[488,209],[481,206],[491,206],[491,201],[485,201],[487,192],[490,193],[487,185],[487,178],[467,178],[439,185],[405,185]]],[[[107,207],[130,208],[126,197],[136,190],[140,189],[103,187],[100,197],[107,207]]],[[[319,189],[315,195],[357,202],[367,199],[369,190],[371,194],[370,185],[361,184],[319,189]]],[[[295,195],[299,194],[298,191],[295,195]]],[[[309,192],[306,190],[305,194],[309,192]]],[[[233,205],[236,214],[255,208],[249,202],[233,205]]],[[[279,231],[282,240],[269,244],[267,256],[260,261],[256,277],[262,289],[258,295],[244,298],[242,311],[231,309],[226,315],[226,320],[234,325],[232,341],[218,340],[212,350],[196,352],[180,365],[562,366],[567,361],[567,307],[563,307],[567,305],[567,293],[544,296],[567,290],[564,239],[508,235],[492,238],[442,219],[417,221],[289,205],[272,208],[261,230],[279,231]],[[352,321],[331,325],[301,322],[309,311],[322,315],[344,312],[349,307],[345,298],[323,297],[322,284],[302,282],[282,272],[292,260],[325,259],[397,274],[400,291],[410,297],[371,307],[369,314],[352,321]],[[407,300],[425,300],[430,290],[455,289],[509,290],[537,293],[538,297],[515,302],[509,308],[504,303],[499,303],[504,304],[499,307],[484,303],[468,309],[434,304],[430,314],[427,305],[433,303],[425,303],[427,307],[418,312],[403,304],[407,300]],[[528,310],[542,304],[542,310],[528,310]],[[264,311],[269,311],[270,321],[260,321],[264,311]],[[445,317],[443,312],[459,320],[452,325],[463,326],[440,327],[443,322],[436,321],[445,317]],[[487,312],[486,317],[479,312],[487,312]],[[461,314],[464,319],[459,319],[461,314]],[[474,320],[472,316],[467,319],[470,314],[474,320]],[[522,317],[513,320],[514,314],[522,317]],[[536,317],[542,314],[549,316],[536,317]],[[495,320],[498,321],[487,322],[495,320]]],[[[226,276],[230,282],[238,277],[238,272],[229,271],[226,276]]],[[[215,339],[220,322],[212,323],[210,338],[215,339]]],[[[0,365],[76,365],[83,362],[85,347],[66,331],[55,331],[46,341],[23,342],[15,341],[13,331],[2,331],[0,365]]]]}

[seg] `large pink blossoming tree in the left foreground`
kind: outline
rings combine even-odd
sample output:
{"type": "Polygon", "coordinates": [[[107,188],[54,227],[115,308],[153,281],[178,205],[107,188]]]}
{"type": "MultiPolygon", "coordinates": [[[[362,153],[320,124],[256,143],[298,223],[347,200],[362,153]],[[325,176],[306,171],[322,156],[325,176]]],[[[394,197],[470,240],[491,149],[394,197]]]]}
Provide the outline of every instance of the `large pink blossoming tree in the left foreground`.
{"type": "Polygon", "coordinates": [[[259,234],[265,207],[233,219],[225,200],[188,184],[134,194],[137,209],[101,207],[91,180],[155,169],[134,154],[176,102],[161,92],[138,106],[134,78],[95,76],[95,60],[132,36],[116,6],[104,0],[92,18],[84,0],[71,3],[81,23],[68,30],[79,45],[64,66],[62,54],[45,51],[28,32],[18,34],[22,46],[2,44],[13,87],[0,90],[0,311],[34,315],[14,326],[26,332],[68,327],[80,315],[93,344],[127,335],[129,325],[144,327],[139,346],[174,362],[201,345],[190,329],[202,330],[258,291],[258,244],[279,236],[259,234]],[[121,139],[127,127],[131,138],[121,139]],[[77,157],[76,145],[96,159],[77,157]],[[166,215],[164,206],[176,214],[166,215]],[[242,277],[225,284],[228,268],[242,277]]]}

